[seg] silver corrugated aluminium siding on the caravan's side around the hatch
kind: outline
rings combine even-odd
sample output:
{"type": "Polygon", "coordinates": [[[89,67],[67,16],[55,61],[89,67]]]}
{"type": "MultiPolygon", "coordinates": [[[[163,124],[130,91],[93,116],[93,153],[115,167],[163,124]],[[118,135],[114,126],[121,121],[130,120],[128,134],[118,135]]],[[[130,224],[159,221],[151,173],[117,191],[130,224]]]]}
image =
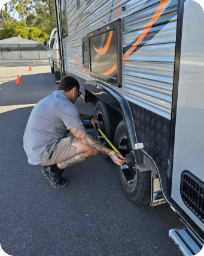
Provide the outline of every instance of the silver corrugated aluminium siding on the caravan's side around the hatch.
{"type": "MultiPolygon", "coordinates": [[[[170,120],[177,23],[177,1],[164,1],[165,8],[147,35],[122,65],[122,87],[114,87],[129,102],[170,120]]],[[[81,69],[81,38],[95,29],[122,21],[123,58],[155,16],[160,1],[66,0],[68,37],[63,40],[65,70],[84,79],[94,79],[81,69]],[[121,7],[126,10],[121,11],[121,7]]],[[[87,70],[89,72],[89,70],[87,70]]]]}

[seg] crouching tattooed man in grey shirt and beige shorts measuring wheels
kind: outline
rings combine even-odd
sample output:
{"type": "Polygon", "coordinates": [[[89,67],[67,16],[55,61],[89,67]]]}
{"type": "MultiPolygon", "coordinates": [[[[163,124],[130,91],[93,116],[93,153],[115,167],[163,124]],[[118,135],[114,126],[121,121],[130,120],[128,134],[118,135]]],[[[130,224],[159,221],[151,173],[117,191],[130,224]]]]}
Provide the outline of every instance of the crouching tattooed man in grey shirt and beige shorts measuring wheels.
{"type": "MultiPolygon", "coordinates": [[[[114,163],[122,165],[126,158],[103,147],[86,132],[81,120],[90,115],[80,114],[74,106],[80,97],[77,79],[65,76],[59,88],[38,102],[32,109],[23,136],[23,148],[31,165],[42,165],[42,173],[53,187],[64,187],[62,177],[66,167],[83,163],[98,152],[107,154],[114,163]],[[74,136],[68,136],[69,131],[74,136]]],[[[90,118],[93,126],[99,121],[90,118]]]]}

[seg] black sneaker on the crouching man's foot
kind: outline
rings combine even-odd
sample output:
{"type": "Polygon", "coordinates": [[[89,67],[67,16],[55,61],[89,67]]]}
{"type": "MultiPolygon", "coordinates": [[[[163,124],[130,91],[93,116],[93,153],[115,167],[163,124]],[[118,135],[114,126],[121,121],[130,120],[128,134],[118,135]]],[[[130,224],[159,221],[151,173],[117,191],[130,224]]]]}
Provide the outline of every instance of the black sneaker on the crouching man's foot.
{"type": "Polygon", "coordinates": [[[42,173],[54,188],[65,187],[68,184],[68,180],[62,177],[63,170],[53,172],[52,165],[42,166],[42,173]]]}

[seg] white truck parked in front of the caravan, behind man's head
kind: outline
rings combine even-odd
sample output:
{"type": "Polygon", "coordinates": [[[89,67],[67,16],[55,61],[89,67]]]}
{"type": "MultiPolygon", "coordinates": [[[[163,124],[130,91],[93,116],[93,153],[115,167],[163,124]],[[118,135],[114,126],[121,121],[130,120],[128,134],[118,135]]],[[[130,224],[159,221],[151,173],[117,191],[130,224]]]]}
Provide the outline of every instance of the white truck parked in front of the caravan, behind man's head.
{"type": "Polygon", "coordinates": [[[56,83],[60,82],[60,58],[59,58],[59,44],[57,37],[57,29],[54,28],[50,34],[48,58],[51,67],[51,73],[54,73],[56,83]]]}

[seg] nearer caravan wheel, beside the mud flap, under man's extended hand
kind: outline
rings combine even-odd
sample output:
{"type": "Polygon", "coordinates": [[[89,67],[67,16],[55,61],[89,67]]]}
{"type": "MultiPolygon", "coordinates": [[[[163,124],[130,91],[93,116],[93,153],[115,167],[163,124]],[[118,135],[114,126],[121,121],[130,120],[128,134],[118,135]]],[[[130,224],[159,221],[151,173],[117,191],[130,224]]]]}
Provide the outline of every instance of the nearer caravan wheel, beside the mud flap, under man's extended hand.
{"type": "MultiPolygon", "coordinates": [[[[115,131],[114,145],[118,151],[126,156],[133,153],[129,147],[124,121],[120,121],[115,131]]],[[[151,201],[151,172],[139,172],[136,167],[116,165],[118,176],[123,186],[124,193],[136,204],[147,204],[151,201]]]]}

